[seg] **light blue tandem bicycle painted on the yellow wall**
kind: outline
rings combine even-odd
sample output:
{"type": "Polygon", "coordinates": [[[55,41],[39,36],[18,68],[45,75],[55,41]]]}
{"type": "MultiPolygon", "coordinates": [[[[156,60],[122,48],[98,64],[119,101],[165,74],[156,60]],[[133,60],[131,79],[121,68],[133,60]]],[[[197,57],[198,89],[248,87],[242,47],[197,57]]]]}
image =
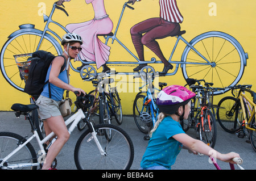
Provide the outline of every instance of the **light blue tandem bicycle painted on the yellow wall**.
{"type": "MultiPolygon", "coordinates": [[[[110,39],[112,39],[112,43],[117,41],[122,48],[131,54],[135,61],[108,61],[106,64],[138,66],[138,64],[145,63],[144,61],[139,61],[139,58],[135,56],[131,50],[129,50],[125,44],[123,44],[117,38],[117,31],[121,24],[126,7],[134,10],[134,8],[127,5],[126,2],[123,5],[114,33],[103,36],[106,39],[105,44],[108,44],[110,39]]],[[[44,22],[46,22],[43,31],[36,29],[34,24],[22,24],[19,26],[19,30],[11,33],[5,45],[3,45],[0,55],[1,71],[6,81],[9,82],[11,86],[15,87],[15,89],[20,91],[24,90],[24,82],[20,81],[20,70],[15,67],[15,62],[18,62],[19,64],[30,62],[31,53],[40,49],[48,50],[55,55],[63,52],[63,49],[59,44],[59,41],[61,40],[60,36],[50,28],[51,26],[49,26],[49,24],[55,24],[57,27],[60,27],[61,30],[68,32],[64,26],[52,20],[52,16],[56,9],[61,10],[68,15],[67,11],[65,11],[63,7],[57,6],[56,3],[54,3],[49,16],[43,16],[44,22]]],[[[234,37],[224,32],[210,31],[196,36],[190,42],[188,42],[182,37],[184,33],[185,31],[180,31],[175,36],[177,40],[172,52],[170,52],[171,54],[168,61],[171,64],[176,64],[176,68],[172,73],[167,73],[166,76],[175,75],[180,66],[185,79],[193,77],[204,78],[214,82],[217,87],[233,86],[240,81],[245,66],[247,65],[248,54],[245,53],[241,44],[234,39],[234,37]],[[183,41],[186,46],[181,55],[181,60],[173,61],[172,56],[175,53],[180,40],[183,41]]],[[[81,73],[97,73],[96,69],[94,68],[95,62],[86,62],[85,60],[81,60],[80,57],[79,60],[83,64],[86,64],[81,69],[81,73]],[[88,69],[90,72],[88,72],[88,69]]],[[[155,58],[151,58],[151,61],[147,61],[146,63],[162,64],[162,61],[156,61],[155,58]]],[[[72,70],[79,73],[80,71],[77,70],[72,64],[74,63],[71,63],[72,70]]],[[[148,68],[155,71],[152,66],[148,65],[147,68],[145,67],[141,70],[141,72],[148,68]]],[[[123,73],[130,74],[127,72],[123,73]]],[[[214,94],[220,93],[222,92],[214,92],[214,94]]]]}

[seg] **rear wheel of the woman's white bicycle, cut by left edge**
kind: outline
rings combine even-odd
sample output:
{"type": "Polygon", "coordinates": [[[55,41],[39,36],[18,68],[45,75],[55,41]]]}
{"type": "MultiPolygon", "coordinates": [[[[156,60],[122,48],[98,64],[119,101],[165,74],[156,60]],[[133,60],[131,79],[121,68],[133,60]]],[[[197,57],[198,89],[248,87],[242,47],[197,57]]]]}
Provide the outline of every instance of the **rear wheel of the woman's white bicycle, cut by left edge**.
{"type": "MultiPolygon", "coordinates": [[[[0,132],[0,170],[12,169],[12,165],[22,163],[37,163],[36,152],[33,146],[28,142],[22,149],[15,153],[5,163],[2,163],[3,159],[9,155],[13,150],[19,147],[27,141],[24,137],[15,133],[0,132]]],[[[32,167],[18,167],[13,169],[31,169],[36,170],[37,166],[32,167]]]]}

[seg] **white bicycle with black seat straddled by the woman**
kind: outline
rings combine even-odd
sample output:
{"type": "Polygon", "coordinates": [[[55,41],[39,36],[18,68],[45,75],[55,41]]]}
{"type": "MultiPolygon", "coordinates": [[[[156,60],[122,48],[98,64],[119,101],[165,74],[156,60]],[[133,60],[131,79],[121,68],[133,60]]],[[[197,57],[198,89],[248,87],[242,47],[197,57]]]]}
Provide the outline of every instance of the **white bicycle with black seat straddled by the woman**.
{"type": "MultiPolygon", "coordinates": [[[[84,112],[92,106],[92,103],[92,95],[77,96],[75,104],[79,110],[65,121],[66,125],[73,122],[68,129],[69,133],[72,133],[80,119],[85,119],[84,112]]],[[[56,140],[53,138],[49,145],[45,144],[54,137],[54,133],[40,140],[29,115],[29,112],[38,108],[36,104],[13,104],[11,108],[17,117],[27,116],[32,136],[22,137],[11,132],[0,132],[0,169],[38,169],[46,158],[47,150],[56,140]],[[38,155],[31,145],[34,138],[40,148],[38,155]]],[[[129,135],[112,124],[93,125],[86,119],[85,121],[88,129],[81,134],[74,150],[77,169],[130,169],[134,158],[134,147],[129,135]]],[[[55,159],[52,166],[56,167],[56,164],[55,159]]]]}

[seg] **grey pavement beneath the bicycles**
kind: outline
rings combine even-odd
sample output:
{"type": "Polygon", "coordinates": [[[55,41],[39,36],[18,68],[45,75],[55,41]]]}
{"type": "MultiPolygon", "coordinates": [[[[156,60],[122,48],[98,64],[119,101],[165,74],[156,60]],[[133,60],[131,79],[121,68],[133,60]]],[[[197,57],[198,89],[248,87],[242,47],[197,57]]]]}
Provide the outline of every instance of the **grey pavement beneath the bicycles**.
{"type": "MultiPolygon", "coordinates": [[[[113,120],[113,123],[115,121],[113,120]]],[[[114,123],[115,124],[115,123],[114,123]]],[[[220,126],[218,126],[217,131],[217,142],[215,149],[221,153],[228,153],[234,151],[240,154],[243,158],[243,168],[246,170],[256,169],[256,152],[251,148],[251,145],[246,143],[247,138],[238,138],[235,134],[226,133],[220,126]]],[[[147,141],[143,140],[144,134],[141,133],[134,123],[134,119],[131,116],[123,117],[123,124],[120,126],[129,134],[133,140],[135,157],[131,169],[139,169],[141,158],[147,146],[147,141]]],[[[24,116],[20,116],[16,119],[14,112],[0,112],[0,131],[9,131],[20,134],[21,136],[26,136],[30,134],[30,127],[28,122],[24,120],[24,116]]],[[[75,170],[75,162],[73,158],[73,150],[75,149],[75,144],[80,137],[80,132],[75,129],[69,141],[61,150],[60,154],[57,156],[57,169],[60,170],[75,170]]],[[[187,132],[190,136],[196,136],[193,129],[187,132]]],[[[35,143],[35,142],[34,142],[35,143]]],[[[36,144],[35,146],[36,149],[36,144]]],[[[222,169],[229,169],[229,164],[218,161],[218,164],[222,169]]],[[[187,150],[181,150],[177,157],[175,165],[172,166],[173,170],[215,170],[215,167],[208,162],[208,157],[199,155],[189,154],[187,150]]]]}

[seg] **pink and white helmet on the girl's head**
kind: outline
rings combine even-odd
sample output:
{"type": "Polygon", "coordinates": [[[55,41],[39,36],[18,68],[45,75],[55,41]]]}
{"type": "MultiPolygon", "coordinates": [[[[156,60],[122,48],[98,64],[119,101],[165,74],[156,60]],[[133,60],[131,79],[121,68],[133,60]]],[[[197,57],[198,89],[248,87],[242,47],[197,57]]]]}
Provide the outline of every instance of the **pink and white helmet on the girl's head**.
{"type": "Polygon", "coordinates": [[[179,85],[172,85],[159,92],[156,98],[156,105],[160,112],[176,113],[180,106],[183,106],[195,96],[195,92],[179,85]]]}

